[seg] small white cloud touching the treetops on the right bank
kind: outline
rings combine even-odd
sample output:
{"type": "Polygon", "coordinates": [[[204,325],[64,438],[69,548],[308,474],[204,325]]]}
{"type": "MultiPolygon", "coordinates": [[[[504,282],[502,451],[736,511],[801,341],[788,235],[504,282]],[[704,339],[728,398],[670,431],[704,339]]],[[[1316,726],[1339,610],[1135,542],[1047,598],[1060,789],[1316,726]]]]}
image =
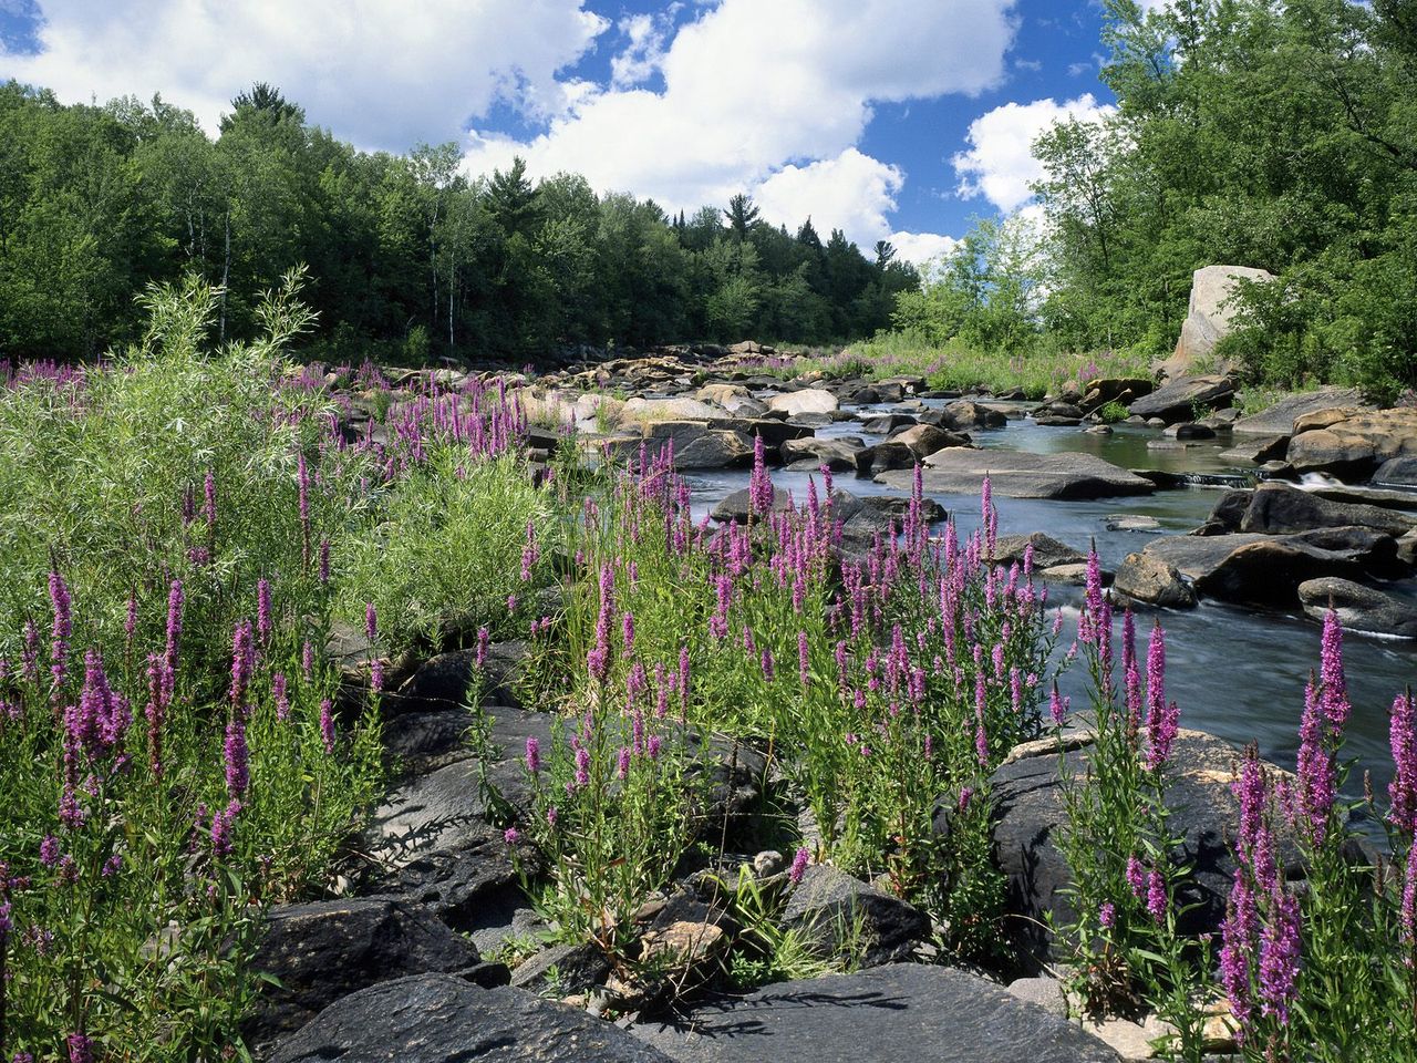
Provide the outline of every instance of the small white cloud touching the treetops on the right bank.
{"type": "Polygon", "coordinates": [[[1043,176],[1043,167],[1033,157],[1034,137],[1070,115],[1093,122],[1115,109],[1085,92],[1063,103],[1036,99],[985,112],[969,123],[965,135],[969,149],[954,157],[958,194],[962,198],[983,196],[1005,213],[1017,210],[1033,197],[1029,184],[1043,176]]]}

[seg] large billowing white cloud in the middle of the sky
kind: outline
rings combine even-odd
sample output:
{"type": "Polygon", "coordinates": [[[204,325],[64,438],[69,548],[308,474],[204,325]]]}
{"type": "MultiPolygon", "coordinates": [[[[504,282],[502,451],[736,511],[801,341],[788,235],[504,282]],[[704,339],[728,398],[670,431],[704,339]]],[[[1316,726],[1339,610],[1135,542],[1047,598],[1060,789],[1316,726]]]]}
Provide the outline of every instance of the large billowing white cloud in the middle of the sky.
{"type": "Polygon", "coordinates": [[[587,92],[538,136],[475,130],[465,167],[487,173],[521,154],[533,174],[574,170],[601,191],[635,191],[666,210],[760,190],[788,224],[812,213],[822,231],[879,240],[904,174],[853,152],[873,105],[998,85],[1012,9],[1013,0],[721,0],[662,52],[642,50],[655,54],[659,91],[638,77],[633,35],[648,41],[653,27],[631,18],[618,84],[587,92]],[[830,173],[863,183],[854,194],[830,193],[830,173]]]}

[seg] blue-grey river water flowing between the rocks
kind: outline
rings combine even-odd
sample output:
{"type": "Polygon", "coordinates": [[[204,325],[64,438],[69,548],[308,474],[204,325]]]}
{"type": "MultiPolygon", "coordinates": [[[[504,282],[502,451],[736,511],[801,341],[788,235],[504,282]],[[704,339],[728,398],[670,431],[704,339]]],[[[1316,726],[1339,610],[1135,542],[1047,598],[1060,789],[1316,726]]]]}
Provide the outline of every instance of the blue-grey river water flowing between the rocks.
{"type": "MultiPolygon", "coordinates": [[[[871,415],[888,407],[867,408],[871,415]]],[[[1015,408],[1012,414],[1022,414],[1015,408]]],[[[879,442],[862,431],[859,422],[840,421],[819,429],[818,435],[856,435],[864,442],[879,442]]],[[[1159,432],[1119,427],[1112,435],[1090,435],[1081,428],[1043,428],[1017,417],[1006,428],[972,434],[982,446],[1030,452],[1085,451],[1114,465],[1135,469],[1159,469],[1199,479],[1237,480],[1244,469],[1220,458],[1229,444],[1207,442],[1158,449],[1159,432]]],[[[772,472],[778,488],[791,490],[801,503],[806,499],[809,473],[772,472]]],[[[819,476],[816,478],[820,479],[819,476]]],[[[690,475],[696,516],[701,517],[721,497],[747,486],[747,471],[690,475]]],[[[836,485],[857,495],[900,493],[870,479],[836,473],[836,485]]],[[[820,486],[820,485],[819,485],[820,486]]],[[[1158,490],[1151,496],[1100,499],[1094,502],[1043,502],[996,497],[999,534],[1046,532],[1085,551],[1097,544],[1102,566],[1115,570],[1122,558],[1141,550],[1149,536],[1179,534],[1203,523],[1220,497],[1217,486],[1186,486],[1158,490]],[[1152,532],[1110,530],[1117,516],[1152,517],[1152,532]]],[[[955,520],[961,537],[979,527],[978,495],[932,495],[955,520]]],[[[1149,523],[1149,522],[1148,522],[1149,523]]],[[[1414,581],[1386,590],[1403,597],[1417,597],[1414,581]]],[[[1050,584],[1050,602],[1066,608],[1064,635],[1076,624],[1077,588],[1050,584]]],[[[1166,686],[1178,702],[1182,724],[1210,731],[1238,746],[1255,741],[1260,753],[1280,765],[1294,765],[1298,748],[1299,713],[1304,709],[1304,685],[1309,670],[1318,668],[1319,626],[1301,614],[1253,612],[1214,602],[1196,609],[1155,614],[1166,631],[1166,686]]],[[[1138,636],[1145,652],[1145,634],[1151,614],[1138,617],[1138,636]]],[[[1417,682],[1417,642],[1349,634],[1345,638],[1348,683],[1353,703],[1348,753],[1357,761],[1348,789],[1359,792],[1362,771],[1372,770],[1373,781],[1386,785],[1391,758],[1387,751],[1387,714],[1393,697],[1408,683],[1417,682]]],[[[1064,693],[1074,703],[1085,699],[1084,675],[1076,668],[1064,679],[1064,693]]]]}

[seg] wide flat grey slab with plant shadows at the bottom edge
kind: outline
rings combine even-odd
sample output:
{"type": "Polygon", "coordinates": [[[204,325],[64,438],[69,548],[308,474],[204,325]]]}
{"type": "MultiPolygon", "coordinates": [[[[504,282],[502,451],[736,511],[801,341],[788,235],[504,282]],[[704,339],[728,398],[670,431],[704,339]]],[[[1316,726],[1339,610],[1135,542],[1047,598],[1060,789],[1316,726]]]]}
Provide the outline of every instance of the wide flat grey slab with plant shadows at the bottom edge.
{"type": "Polygon", "coordinates": [[[726,996],[635,1032],[679,1063],[1115,1063],[1080,1028],[944,967],[893,964],[726,996]]]}

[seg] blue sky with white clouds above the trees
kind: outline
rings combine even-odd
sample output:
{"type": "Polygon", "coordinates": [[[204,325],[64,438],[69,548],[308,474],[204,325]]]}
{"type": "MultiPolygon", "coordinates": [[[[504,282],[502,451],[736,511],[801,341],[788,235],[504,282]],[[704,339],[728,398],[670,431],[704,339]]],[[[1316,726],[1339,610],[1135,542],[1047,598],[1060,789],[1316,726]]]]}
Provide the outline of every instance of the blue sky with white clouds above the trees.
{"type": "MultiPolygon", "coordinates": [[[[1153,3],[1155,0],[1148,0],[1153,3]]],[[[0,78],[163,99],[252,82],[366,150],[453,140],[669,211],[747,191],[917,262],[1029,208],[1029,145],[1111,106],[1098,0],[0,0],[0,78]]]]}

